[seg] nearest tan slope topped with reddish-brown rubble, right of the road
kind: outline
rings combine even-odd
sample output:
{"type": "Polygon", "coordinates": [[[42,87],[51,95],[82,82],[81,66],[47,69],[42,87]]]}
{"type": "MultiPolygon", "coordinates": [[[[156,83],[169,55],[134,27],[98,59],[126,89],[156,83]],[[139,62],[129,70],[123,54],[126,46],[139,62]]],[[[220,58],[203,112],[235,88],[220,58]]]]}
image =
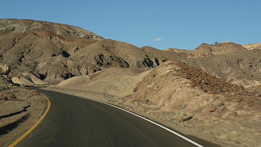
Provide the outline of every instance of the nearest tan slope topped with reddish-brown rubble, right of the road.
{"type": "Polygon", "coordinates": [[[153,69],[136,90],[128,98],[134,109],[165,118],[187,134],[221,146],[259,145],[260,93],[177,61],[153,69]]]}

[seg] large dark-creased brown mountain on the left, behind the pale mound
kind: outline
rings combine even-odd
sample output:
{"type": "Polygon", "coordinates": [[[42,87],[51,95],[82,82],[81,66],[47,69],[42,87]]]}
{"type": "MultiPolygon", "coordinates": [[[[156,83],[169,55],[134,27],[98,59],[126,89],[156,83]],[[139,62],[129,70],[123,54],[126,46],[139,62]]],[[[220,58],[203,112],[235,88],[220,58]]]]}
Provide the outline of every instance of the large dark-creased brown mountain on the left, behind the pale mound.
{"type": "Polygon", "coordinates": [[[0,32],[0,62],[11,66],[10,76],[20,84],[59,83],[108,67],[151,68],[179,58],[176,53],[105,40],[70,25],[1,19],[0,32]]]}

